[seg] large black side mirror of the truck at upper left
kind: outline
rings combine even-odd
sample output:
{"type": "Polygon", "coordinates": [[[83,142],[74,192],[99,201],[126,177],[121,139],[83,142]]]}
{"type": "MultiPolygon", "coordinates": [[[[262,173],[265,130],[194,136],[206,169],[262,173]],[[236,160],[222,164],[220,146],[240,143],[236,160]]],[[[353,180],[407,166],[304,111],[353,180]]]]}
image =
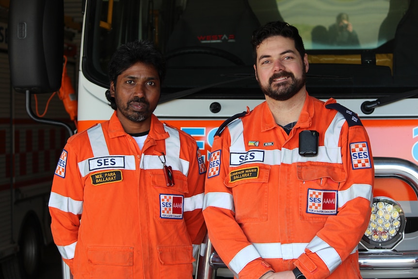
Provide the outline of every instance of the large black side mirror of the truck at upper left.
{"type": "Polygon", "coordinates": [[[17,92],[60,89],[64,55],[64,1],[13,0],[9,7],[9,64],[17,92]]]}

